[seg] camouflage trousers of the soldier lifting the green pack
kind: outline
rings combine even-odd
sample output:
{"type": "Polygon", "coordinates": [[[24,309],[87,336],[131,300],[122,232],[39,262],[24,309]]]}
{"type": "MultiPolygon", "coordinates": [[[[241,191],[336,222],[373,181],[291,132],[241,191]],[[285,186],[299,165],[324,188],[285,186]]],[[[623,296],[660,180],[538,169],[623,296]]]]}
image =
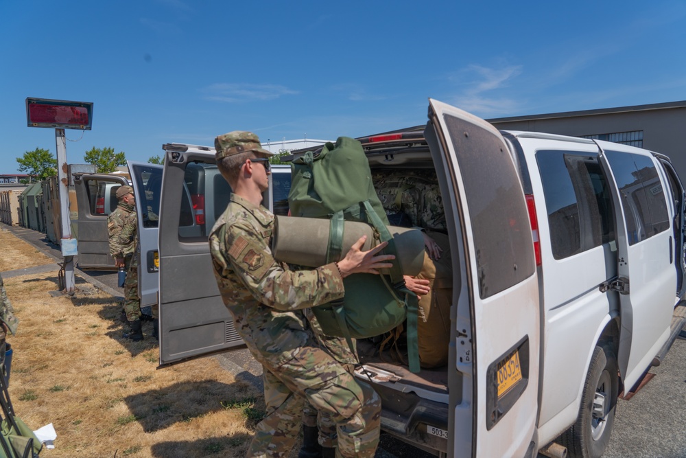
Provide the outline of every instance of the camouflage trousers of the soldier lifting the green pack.
{"type": "Polygon", "coordinates": [[[300,347],[276,367],[263,362],[266,413],[248,457],[287,457],[303,418],[305,401],[335,424],[336,456],[371,458],[379,445],[381,398],[316,343],[300,347]]]}

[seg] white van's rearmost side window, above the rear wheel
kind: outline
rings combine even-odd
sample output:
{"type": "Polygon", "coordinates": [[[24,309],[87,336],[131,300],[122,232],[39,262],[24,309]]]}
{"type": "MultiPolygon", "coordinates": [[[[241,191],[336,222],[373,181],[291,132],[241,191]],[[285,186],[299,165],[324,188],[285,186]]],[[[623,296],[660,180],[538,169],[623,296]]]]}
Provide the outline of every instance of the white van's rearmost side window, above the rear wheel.
{"type": "Polygon", "coordinates": [[[536,152],[556,260],[615,239],[611,194],[598,154],[536,152]]]}

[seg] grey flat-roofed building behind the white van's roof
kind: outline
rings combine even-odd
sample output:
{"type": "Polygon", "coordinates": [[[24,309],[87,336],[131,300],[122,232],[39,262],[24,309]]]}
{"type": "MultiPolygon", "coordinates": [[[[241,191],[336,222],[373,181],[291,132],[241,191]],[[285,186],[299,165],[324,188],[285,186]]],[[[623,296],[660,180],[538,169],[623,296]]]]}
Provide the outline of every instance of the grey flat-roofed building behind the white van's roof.
{"type": "Polygon", "coordinates": [[[500,117],[488,119],[488,122],[504,130],[529,130],[601,139],[661,152],[672,159],[681,181],[686,183],[686,148],[680,134],[681,129],[686,128],[686,100],[500,117]]]}

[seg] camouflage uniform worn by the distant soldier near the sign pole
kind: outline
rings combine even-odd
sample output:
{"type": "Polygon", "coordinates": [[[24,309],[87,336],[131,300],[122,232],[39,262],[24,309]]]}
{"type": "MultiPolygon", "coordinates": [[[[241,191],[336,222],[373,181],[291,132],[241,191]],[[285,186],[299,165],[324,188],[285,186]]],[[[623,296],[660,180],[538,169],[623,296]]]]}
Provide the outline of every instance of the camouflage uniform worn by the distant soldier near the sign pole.
{"type": "Polygon", "coordinates": [[[107,229],[110,236],[110,255],[123,257],[126,269],[124,282],[124,312],[128,321],[141,318],[141,301],[138,297],[138,259],[136,257],[136,239],[138,218],[136,209],[119,201],[119,205],[107,217],[107,229]]]}

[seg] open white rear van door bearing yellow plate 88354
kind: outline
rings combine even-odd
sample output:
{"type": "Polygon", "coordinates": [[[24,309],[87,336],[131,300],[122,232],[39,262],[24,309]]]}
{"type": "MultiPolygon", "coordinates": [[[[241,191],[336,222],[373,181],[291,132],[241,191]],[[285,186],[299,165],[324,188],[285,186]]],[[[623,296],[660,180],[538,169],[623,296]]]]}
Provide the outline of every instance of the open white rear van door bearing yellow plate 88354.
{"type": "Polygon", "coordinates": [[[425,137],[450,244],[458,247],[453,285],[462,285],[453,291],[449,450],[456,457],[533,456],[540,312],[517,171],[500,133],[458,108],[429,100],[425,137]]]}

